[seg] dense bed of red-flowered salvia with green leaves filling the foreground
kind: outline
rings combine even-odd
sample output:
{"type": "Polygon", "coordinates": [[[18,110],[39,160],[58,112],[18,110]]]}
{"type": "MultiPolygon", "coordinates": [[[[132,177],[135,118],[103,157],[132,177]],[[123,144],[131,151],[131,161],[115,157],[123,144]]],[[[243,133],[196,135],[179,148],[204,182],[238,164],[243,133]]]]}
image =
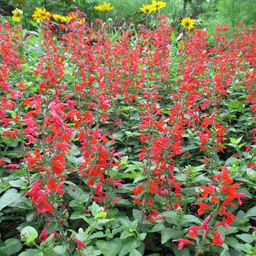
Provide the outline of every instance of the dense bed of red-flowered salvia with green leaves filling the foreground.
{"type": "Polygon", "coordinates": [[[0,24],[0,255],[255,255],[255,27],[70,15],[0,24]]]}

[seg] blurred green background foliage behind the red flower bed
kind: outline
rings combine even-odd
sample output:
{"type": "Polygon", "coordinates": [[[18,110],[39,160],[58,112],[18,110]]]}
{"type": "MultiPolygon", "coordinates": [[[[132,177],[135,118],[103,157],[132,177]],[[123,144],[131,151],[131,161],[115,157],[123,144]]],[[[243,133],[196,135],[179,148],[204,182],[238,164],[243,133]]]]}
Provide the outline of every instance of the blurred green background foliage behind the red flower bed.
{"type": "MultiPolygon", "coordinates": [[[[166,0],[167,6],[162,13],[170,18],[174,29],[181,31],[180,21],[191,17],[196,21],[197,28],[206,28],[208,34],[214,34],[217,23],[227,23],[228,34],[233,34],[236,25],[244,21],[245,26],[253,26],[256,22],[256,0],[166,0]]],[[[151,0],[0,0],[0,13],[12,15],[15,7],[23,10],[25,26],[35,7],[45,7],[49,12],[66,15],[75,11],[75,7],[86,13],[86,18],[111,18],[114,23],[124,25],[142,23],[145,15],[140,11],[143,4],[151,4],[151,0]],[[106,13],[94,10],[94,6],[107,1],[115,7],[106,13]]]]}

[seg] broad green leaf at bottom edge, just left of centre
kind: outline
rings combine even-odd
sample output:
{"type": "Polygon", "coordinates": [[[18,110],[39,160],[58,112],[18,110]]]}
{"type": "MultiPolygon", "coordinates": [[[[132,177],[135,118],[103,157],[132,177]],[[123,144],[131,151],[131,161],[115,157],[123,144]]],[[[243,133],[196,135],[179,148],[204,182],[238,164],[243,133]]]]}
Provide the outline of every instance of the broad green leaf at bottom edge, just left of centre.
{"type": "Polygon", "coordinates": [[[121,249],[122,242],[119,238],[110,241],[98,240],[96,245],[104,256],[116,256],[121,249]]]}

